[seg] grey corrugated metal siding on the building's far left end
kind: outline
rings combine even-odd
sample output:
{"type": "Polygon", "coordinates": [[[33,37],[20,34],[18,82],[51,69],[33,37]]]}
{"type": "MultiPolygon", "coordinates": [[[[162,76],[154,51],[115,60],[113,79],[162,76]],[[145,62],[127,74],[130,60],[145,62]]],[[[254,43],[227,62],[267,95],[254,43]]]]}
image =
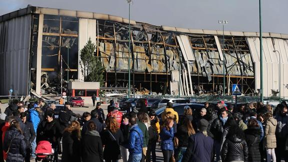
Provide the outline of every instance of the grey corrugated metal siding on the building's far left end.
{"type": "Polygon", "coordinates": [[[31,14],[0,23],[0,94],[28,94],[31,14]]]}

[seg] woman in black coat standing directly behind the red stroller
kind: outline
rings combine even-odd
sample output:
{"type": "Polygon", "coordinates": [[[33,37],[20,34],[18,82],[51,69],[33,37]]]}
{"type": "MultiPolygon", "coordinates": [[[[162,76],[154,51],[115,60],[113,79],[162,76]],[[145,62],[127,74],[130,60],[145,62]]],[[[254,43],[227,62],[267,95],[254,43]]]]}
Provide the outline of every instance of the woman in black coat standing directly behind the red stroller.
{"type": "Polygon", "coordinates": [[[37,128],[36,143],[42,140],[47,140],[52,144],[54,151],[54,160],[58,161],[58,153],[62,152],[60,139],[63,129],[57,119],[53,119],[53,113],[46,114],[46,120],[43,120],[37,128]]]}

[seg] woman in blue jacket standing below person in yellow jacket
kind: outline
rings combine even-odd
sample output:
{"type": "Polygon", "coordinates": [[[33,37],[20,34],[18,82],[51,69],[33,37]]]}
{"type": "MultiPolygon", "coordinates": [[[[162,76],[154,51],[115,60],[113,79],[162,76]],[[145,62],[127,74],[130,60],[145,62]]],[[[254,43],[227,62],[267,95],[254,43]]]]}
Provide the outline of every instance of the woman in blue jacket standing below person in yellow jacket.
{"type": "Polygon", "coordinates": [[[161,150],[164,157],[164,162],[169,162],[170,158],[172,157],[174,144],[173,144],[173,137],[174,137],[174,130],[173,130],[174,121],[172,118],[166,118],[163,128],[160,132],[161,138],[161,150]]]}

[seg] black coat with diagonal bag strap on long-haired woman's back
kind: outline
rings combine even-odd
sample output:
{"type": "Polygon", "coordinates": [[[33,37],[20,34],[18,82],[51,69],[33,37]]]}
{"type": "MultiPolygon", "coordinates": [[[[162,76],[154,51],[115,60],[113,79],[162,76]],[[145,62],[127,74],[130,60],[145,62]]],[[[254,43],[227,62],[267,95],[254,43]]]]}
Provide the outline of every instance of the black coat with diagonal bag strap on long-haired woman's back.
{"type": "Polygon", "coordinates": [[[105,145],[104,159],[119,159],[121,157],[120,144],[124,141],[122,131],[118,129],[113,133],[111,130],[106,129],[102,132],[101,139],[102,144],[105,145]],[[111,152],[113,153],[111,154],[111,152]]]}

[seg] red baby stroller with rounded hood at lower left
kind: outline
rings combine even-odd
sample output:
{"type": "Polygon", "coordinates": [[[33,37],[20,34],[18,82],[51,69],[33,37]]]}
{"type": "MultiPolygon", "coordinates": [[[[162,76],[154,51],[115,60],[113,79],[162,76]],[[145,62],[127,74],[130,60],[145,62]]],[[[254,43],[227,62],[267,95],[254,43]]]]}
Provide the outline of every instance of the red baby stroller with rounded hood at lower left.
{"type": "Polygon", "coordinates": [[[39,141],[35,149],[36,161],[53,161],[54,150],[47,140],[39,141]]]}

